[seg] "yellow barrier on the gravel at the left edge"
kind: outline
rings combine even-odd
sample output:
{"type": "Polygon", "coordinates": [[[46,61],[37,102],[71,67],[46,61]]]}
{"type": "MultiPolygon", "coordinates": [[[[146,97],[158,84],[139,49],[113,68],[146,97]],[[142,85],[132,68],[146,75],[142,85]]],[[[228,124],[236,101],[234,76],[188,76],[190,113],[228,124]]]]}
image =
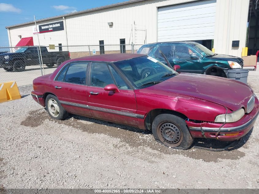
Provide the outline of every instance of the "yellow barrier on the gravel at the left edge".
{"type": "Polygon", "coordinates": [[[0,83],[0,103],[20,98],[21,94],[16,82],[0,83]]]}

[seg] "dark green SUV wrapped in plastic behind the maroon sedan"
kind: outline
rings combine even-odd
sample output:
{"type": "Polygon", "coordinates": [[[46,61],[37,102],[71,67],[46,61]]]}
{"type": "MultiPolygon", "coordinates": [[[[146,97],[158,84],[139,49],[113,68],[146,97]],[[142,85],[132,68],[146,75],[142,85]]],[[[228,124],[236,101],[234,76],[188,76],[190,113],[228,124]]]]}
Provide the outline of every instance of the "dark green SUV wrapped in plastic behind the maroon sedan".
{"type": "Polygon", "coordinates": [[[227,78],[227,70],[243,68],[243,59],[230,55],[215,54],[203,45],[192,42],[161,42],[144,44],[137,51],[160,62],[180,65],[178,72],[215,75],[227,78]]]}

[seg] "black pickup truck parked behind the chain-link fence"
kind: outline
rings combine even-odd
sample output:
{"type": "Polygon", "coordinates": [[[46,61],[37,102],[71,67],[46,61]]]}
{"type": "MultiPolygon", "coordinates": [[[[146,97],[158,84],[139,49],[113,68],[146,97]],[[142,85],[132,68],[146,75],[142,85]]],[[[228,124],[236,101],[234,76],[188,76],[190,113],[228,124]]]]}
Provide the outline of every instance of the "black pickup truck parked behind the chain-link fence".
{"type": "Polygon", "coordinates": [[[47,67],[57,67],[66,60],[70,59],[69,51],[49,52],[46,47],[21,47],[13,53],[0,54],[0,65],[6,71],[24,71],[25,66],[39,65],[40,53],[43,64],[47,67]]]}

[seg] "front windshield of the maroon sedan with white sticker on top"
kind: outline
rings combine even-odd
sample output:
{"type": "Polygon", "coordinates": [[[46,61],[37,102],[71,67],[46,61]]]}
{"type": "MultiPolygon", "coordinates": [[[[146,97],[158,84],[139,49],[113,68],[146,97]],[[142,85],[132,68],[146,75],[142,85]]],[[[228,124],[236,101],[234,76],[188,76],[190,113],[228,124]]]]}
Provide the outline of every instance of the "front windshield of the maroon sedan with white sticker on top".
{"type": "Polygon", "coordinates": [[[114,64],[137,89],[153,86],[178,74],[149,56],[118,61],[114,64]]]}

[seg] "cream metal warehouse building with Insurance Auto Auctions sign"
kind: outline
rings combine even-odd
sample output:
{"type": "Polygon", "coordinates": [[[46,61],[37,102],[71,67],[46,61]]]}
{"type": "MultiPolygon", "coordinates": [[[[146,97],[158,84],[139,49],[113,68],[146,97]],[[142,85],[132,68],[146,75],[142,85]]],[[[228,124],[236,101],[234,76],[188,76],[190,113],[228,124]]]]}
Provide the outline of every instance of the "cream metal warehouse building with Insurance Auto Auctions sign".
{"type": "MultiPolygon", "coordinates": [[[[216,53],[241,56],[250,10],[258,28],[259,8],[253,11],[252,6],[253,0],[131,0],[36,20],[37,31],[34,21],[6,29],[10,47],[38,45],[38,32],[40,45],[54,44],[63,50],[68,47],[58,46],[193,40],[210,49],[212,44],[216,53]],[[233,41],[239,43],[232,47],[233,41]]],[[[257,33],[251,39],[253,47],[259,45],[257,33]]],[[[102,49],[98,46],[96,51],[102,54],[102,49]]]]}

